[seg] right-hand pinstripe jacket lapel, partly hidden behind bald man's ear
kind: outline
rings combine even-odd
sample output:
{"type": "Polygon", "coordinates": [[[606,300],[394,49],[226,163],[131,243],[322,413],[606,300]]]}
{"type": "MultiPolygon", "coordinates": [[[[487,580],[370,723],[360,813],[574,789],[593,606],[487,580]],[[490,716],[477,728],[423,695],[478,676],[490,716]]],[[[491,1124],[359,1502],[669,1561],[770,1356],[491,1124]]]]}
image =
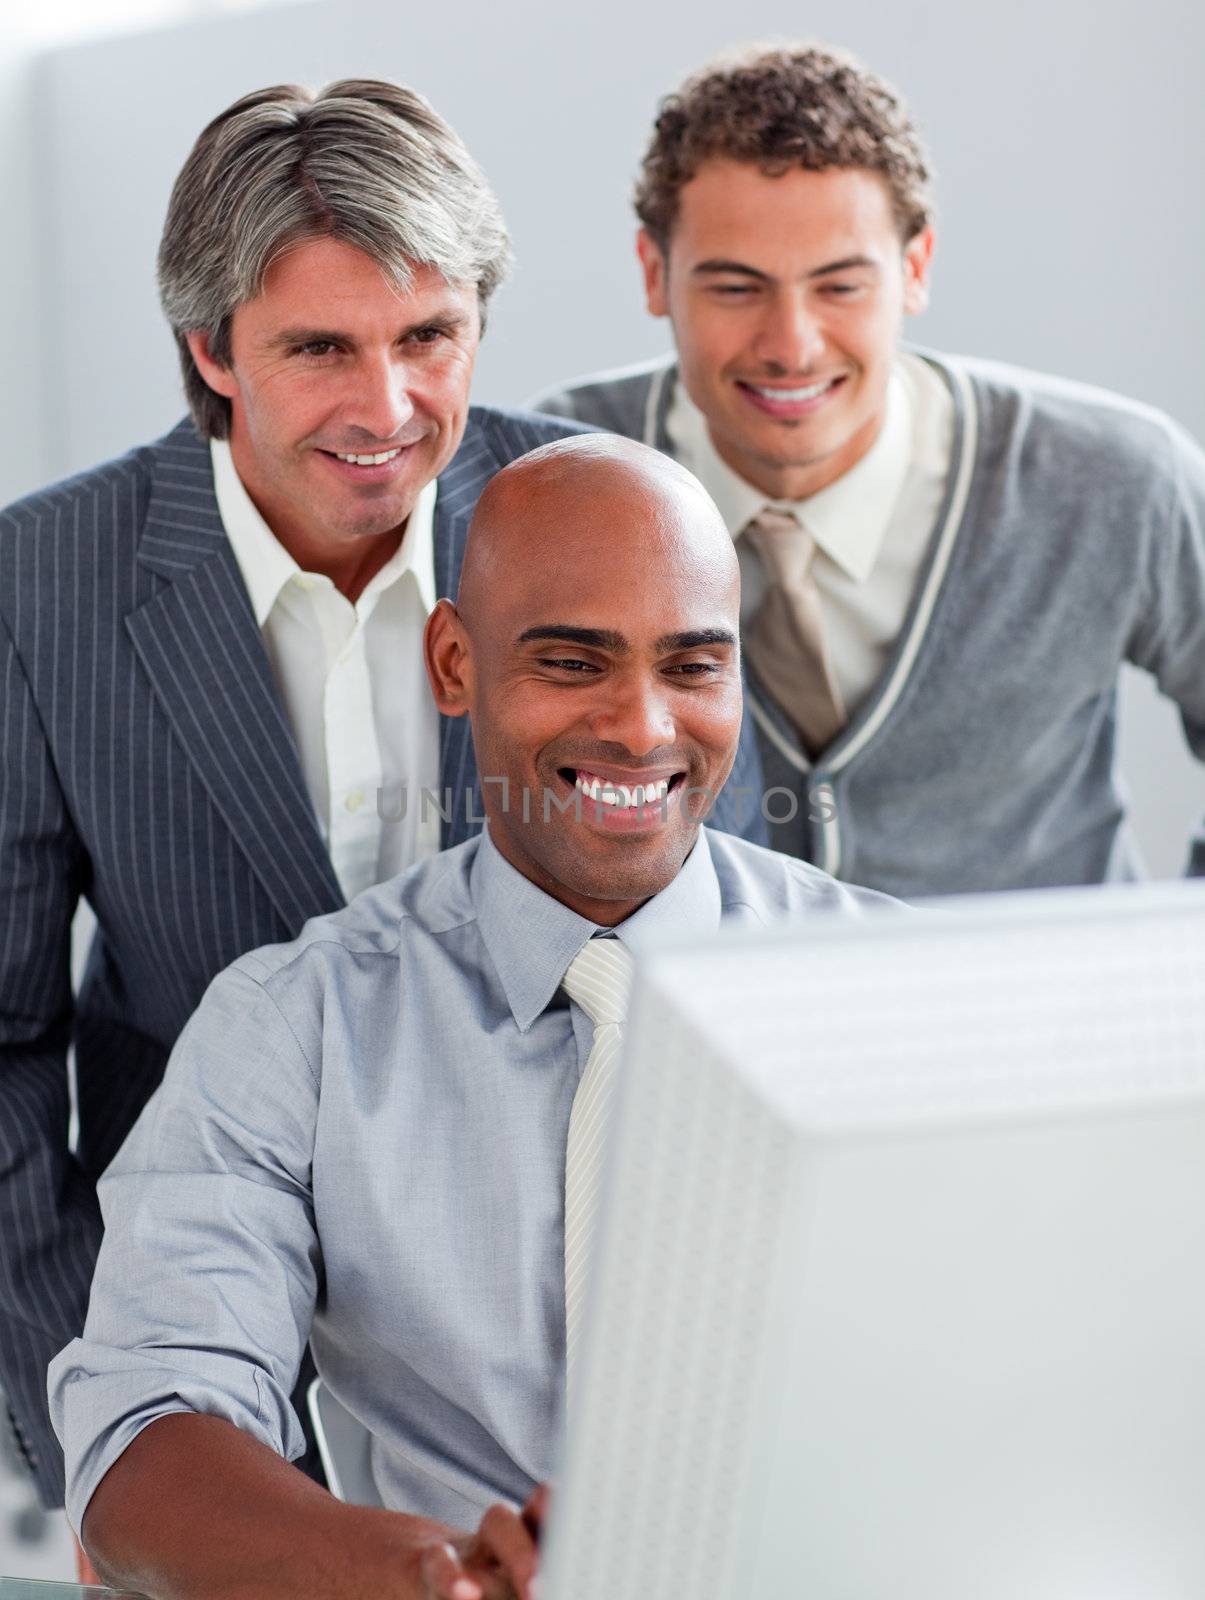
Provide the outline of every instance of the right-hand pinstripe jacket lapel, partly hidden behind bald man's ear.
{"type": "MultiPolygon", "coordinates": [[[[451,464],[440,474],[435,499],[435,592],[456,597],[464,542],[469,536],[477,499],[502,462],[490,448],[485,429],[469,413],[464,440],[451,464]]],[[[440,786],[451,794],[451,816],[442,826],[443,848],[459,845],[478,830],[482,790],[467,717],[440,717],[440,786]]]]}

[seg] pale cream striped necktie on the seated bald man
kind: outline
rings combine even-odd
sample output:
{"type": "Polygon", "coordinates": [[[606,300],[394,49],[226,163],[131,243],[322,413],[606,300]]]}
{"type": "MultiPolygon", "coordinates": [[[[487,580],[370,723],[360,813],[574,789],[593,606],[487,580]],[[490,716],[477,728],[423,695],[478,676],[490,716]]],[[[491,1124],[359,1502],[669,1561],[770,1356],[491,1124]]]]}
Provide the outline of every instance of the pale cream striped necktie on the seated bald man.
{"type": "Polygon", "coordinates": [[[618,939],[590,939],[570,962],[563,987],[594,1022],[565,1150],[565,1378],[571,1386],[632,957],[618,939]]]}

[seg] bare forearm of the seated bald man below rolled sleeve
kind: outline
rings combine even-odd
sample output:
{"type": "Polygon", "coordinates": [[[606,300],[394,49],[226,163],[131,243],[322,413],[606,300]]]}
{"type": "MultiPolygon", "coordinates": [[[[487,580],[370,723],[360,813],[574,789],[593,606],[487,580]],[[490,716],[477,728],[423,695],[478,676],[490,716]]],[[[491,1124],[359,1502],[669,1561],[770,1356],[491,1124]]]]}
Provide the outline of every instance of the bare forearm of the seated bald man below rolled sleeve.
{"type": "Polygon", "coordinates": [[[155,1600],[410,1600],[424,1552],[451,1534],[342,1506],[214,1416],[160,1418],[114,1462],[83,1518],[106,1582],[155,1600]]]}

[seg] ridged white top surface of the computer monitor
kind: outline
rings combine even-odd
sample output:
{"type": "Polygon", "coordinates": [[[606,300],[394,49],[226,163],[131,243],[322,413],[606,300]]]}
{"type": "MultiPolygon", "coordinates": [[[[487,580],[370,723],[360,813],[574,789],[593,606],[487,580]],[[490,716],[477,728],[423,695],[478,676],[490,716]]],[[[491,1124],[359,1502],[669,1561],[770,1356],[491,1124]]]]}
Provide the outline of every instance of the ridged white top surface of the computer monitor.
{"type": "Polygon", "coordinates": [[[739,1014],[720,950],[674,957],[675,994],[811,1131],[1197,1096],[1205,901],[1191,899],[1195,917],[1103,917],[1090,938],[1005,918],[965,939],[957,915],[917,912],[911,936],[899,918],[867,930],[863,960],[845,938],[767,946],[739,1014]]]}

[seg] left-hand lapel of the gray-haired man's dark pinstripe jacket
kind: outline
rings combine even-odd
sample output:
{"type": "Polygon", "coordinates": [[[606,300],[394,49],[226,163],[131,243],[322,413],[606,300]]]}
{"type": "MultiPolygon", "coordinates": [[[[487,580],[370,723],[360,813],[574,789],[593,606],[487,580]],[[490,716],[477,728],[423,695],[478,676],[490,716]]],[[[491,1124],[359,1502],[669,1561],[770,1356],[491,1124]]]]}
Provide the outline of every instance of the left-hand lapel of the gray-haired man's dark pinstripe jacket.
{"type": "Polygon", "coordinates": [[[154,450],[139,565],[170,579],[125,626],[150,686],[251,870],[294,933],[344,904],[296,746],[186,422],[154,450]]]}

